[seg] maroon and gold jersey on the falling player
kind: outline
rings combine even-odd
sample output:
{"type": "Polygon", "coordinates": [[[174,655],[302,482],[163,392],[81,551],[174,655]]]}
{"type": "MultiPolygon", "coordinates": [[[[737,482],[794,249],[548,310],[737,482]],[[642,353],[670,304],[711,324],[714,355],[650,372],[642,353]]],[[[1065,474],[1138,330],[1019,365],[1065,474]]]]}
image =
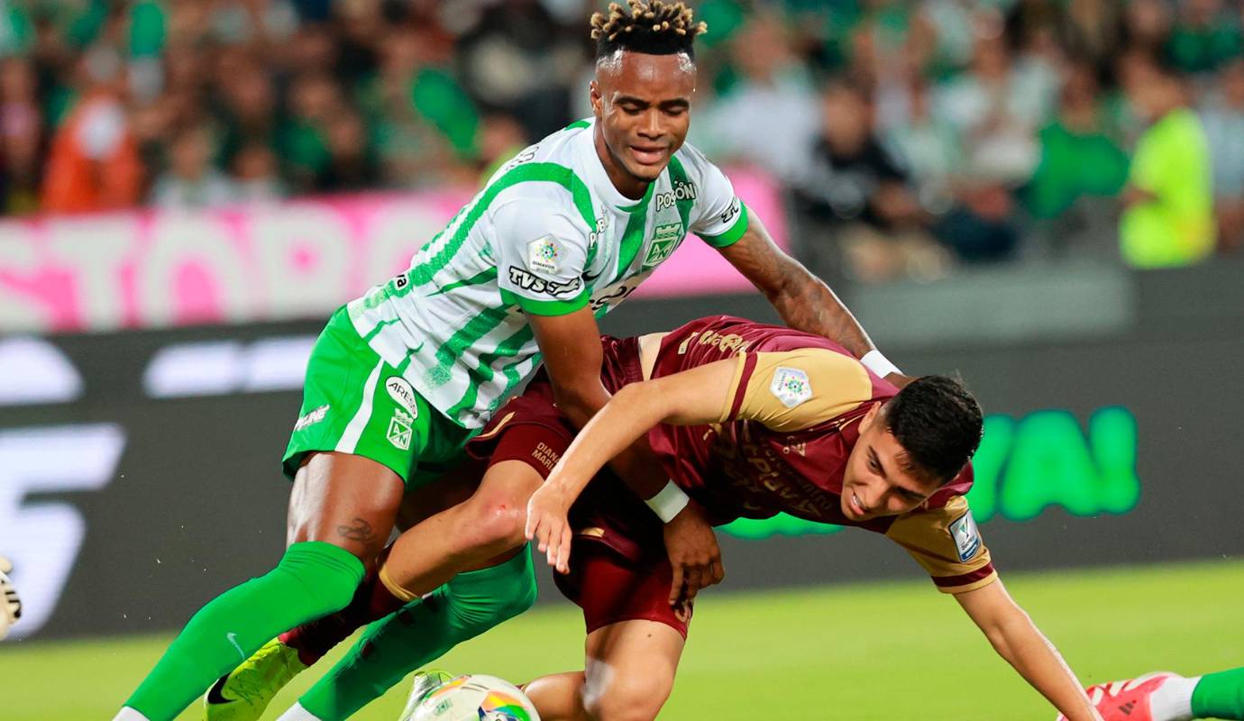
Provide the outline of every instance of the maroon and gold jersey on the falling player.
{"type": "Polygon", "coordinates": [[[693,321],[666,336],[653,377],[733,360],[718,423],[658,425],[648,440],[667,472],[714,523],[779,512],[884,533],[942,590],[996,578],[963,497],[970,466],[917,510],[853,522],[842,515],[842,476],[860,420],[898,390],[832,341],[729,316],[693,321]]]}

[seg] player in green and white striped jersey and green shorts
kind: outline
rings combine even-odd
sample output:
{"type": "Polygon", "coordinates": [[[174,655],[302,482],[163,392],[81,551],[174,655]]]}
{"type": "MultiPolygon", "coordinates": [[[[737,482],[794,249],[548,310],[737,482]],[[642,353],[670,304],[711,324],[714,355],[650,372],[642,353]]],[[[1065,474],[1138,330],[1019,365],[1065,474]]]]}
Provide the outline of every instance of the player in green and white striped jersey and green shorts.
{"type": "MultiPolygon", "coordinates": [[[[453,465],[541,362],[559,406],[586,423],[610,398],[597,317],[688,232],[719,249],[787,324],[884,364],[830,288],[782,254],[725,175],[683,144],[693,41],[704,25],[682,2],[629,4],[629,12],[611,6],[593,16],[593,117],[522,150],[409,270],[333,313],[312,351],[284,459],[294,481],[289,548],[269,573],[190,619],[117,721],[173,719],[269,639],[343,608],[374,569],[404,491],[453,465]]],[[[643,471],[649,462],[642,449],[617,461],[643,498],[664,485],[643,471]]],[[[494,491],[488,517],[521,526],[513,513],[525,496],[494,491]]],[[[667,523],[666,540],[688,595],[720,579],[717,542],[694,505],[667,523]]],[[[429,634],[453,645],[532,602],[527,554],[479,573],[476,623],[447,620],[429,634]]],[[[209,712],[239,695],[213,687],[209,712]]]]}

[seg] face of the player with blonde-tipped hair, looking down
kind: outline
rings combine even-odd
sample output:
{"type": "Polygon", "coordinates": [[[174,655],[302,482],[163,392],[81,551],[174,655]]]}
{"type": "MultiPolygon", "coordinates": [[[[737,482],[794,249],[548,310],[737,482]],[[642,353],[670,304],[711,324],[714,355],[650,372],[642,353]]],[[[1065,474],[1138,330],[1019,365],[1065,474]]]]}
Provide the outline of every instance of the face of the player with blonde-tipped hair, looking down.
{"type": "Polygon", "coordinates": [[[685,53],[618,51],[597,62],[592,111],[611,170],[656,180],[687,139],[694,93],[695,63],[685,53]]]}

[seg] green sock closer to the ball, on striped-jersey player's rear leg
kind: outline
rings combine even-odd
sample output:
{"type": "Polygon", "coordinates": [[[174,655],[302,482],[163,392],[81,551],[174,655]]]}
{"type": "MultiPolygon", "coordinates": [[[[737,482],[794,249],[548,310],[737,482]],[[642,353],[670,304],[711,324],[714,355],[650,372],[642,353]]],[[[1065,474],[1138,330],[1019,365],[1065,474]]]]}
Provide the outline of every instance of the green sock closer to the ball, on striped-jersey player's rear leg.
{"type": "Polygon", "coordinates": [[[459,573],[425,598],[367,627],[299,702],[323,721],[346,719],[411,671],[519,615],[535,599],[535,569],[526,548],[499,566],[459,573]]]}

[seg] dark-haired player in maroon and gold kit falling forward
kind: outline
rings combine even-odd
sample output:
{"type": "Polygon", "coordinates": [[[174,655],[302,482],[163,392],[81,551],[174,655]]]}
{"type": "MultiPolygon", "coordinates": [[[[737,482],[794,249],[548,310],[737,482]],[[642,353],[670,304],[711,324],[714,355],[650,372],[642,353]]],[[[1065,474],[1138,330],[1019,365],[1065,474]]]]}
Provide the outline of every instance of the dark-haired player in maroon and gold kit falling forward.
{"type": "MultiPolygon", "coordinates": [[[[1061,658],[1003,589],[980,541],[963,494],[972,485],[967,461],[980,440],[982,416],[958,383],[922,378],[899,392],[825,338],[725,316],[671,333],[603,338],[602,356],[602,383],[615,400],[577,439],[547,382],[536,380],[469,448],[486,459],[485,477],[504,476],[529,494],[539,489],[527,530],[562,572],[559,587],[583,608],[587,622],[586,670],[537,679],[526,689],[541,717],[657,715],[692,615],[683,590],[702,586],[675,582],[663,547],[662,518],[688,502],[714,523],[787,512],[886,535],[938,588],[955,594],[999,654],[1055,707],[1076,721],[1098,717],[1061,658]],[[641,501],[601,469],[616,449],[646,433],[672,481],[656,498],[641,501]]],[[[369,615],[342,627],[336,638],[315,628],[282,636],[300,655],[310,651],[312,661],[360,622],[414,602],[383,624],[391,633],[373,627],[310,691],[317,706],[333,696],[358,696],[360,687],[379,695],[413,670],[401,669],[394,658],[403,653],[402,629],[417,629],[419,614],[430,613],[427,602],[417,600],[418,589],[521,546],[521,537],[508,546],[460,544],[452,563],[419,553],[420,543],[412,540],[420,533],[470,538],[471,530],[453,526],[454,517],[453,508],[442,512],[394,544],[379,583],[358,597],[356,605],[371,607],[369,615]]],[[[427,684],[417,689],[415,695],[428,690],[427,684]]],[[[348,712],[341,709],[333,717],[348,712]]],[[[311,717],[321,716],[287,716],[311,717]]]]}

